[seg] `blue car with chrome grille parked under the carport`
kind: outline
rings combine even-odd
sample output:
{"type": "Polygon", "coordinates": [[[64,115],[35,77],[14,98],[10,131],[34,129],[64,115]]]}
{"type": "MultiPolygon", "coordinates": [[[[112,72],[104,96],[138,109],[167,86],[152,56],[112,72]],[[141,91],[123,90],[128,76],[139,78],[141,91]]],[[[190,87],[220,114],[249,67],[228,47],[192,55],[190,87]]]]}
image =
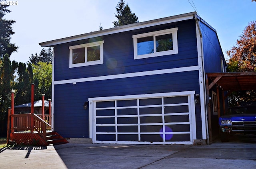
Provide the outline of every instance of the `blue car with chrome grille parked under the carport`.
{"type": "Polygon", "coordinates": [[[219,118],[220,141],[227,142],[236,133],[256,134],[256,106],[229,108],[219,118]]]}

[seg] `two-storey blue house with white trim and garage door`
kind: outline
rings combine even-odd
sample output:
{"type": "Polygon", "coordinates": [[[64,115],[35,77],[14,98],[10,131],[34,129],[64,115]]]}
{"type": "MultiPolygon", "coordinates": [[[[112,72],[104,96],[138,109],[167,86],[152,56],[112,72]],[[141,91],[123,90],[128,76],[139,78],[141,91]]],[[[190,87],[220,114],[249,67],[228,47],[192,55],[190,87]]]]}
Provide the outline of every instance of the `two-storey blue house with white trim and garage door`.
{"type": "Polygon", "coordinates": [[[196,12],[40,45],[54,48],[52,130],[64,138],[209,142],[205,73],[226,63],[216,30],[196,12]]]}

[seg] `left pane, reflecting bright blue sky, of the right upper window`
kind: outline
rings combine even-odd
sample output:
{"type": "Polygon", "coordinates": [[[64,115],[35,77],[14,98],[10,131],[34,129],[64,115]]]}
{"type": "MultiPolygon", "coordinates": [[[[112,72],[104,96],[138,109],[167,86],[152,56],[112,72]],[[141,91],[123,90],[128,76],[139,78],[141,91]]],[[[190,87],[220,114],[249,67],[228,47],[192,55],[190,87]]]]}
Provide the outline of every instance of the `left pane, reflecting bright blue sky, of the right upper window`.
{"type": "Polygon", "coordinates": [[[154,53],[153,36],[138,38],[137,50],[138,50],[138,55],[154,53]]]}

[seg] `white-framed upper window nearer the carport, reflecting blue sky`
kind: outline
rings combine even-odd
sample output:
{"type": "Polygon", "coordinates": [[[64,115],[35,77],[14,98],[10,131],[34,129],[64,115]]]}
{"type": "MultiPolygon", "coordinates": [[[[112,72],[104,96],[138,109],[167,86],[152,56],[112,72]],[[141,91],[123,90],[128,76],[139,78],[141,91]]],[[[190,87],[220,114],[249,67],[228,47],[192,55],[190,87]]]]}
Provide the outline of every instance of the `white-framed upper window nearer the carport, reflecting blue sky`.
{"type": "Polygon", "coordinates": [[[178,53],[178,28],[133,35],[134,59],[178,53]]]}

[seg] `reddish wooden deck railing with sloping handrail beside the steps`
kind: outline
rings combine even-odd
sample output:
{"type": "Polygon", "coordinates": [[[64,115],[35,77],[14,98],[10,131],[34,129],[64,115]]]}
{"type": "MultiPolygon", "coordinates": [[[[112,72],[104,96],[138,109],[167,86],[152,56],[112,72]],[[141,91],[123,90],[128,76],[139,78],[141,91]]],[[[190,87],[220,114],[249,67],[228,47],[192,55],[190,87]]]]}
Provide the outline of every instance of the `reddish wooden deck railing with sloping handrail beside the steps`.
{"type": "MultiPolygon", "coordinates": [[[[46,141],[46,131],[52,126],[36,114],[12,114],[11,132],[38,132],[46,141]],[[32,125],[31,125],[32,124],[32,125]]],[[[51,116],[51,115],[50,115],[51,116]]],[[[51,118],[49,118],[51,119],[51,118]]]]}

